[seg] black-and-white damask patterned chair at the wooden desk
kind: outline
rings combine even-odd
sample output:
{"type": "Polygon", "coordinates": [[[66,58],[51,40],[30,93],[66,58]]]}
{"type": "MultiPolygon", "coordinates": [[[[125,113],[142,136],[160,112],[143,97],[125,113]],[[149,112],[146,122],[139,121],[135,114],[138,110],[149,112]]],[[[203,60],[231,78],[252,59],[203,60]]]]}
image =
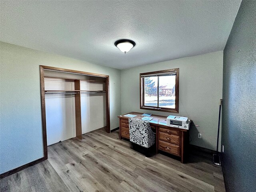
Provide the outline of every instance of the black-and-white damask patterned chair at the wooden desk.
{"type": "Polygon", "coordinates": [[[137,118],[129,118],[130,141],[134,150],[151,156],[154,152],[156,134],[152,131],[149,122],[137,118]]]}

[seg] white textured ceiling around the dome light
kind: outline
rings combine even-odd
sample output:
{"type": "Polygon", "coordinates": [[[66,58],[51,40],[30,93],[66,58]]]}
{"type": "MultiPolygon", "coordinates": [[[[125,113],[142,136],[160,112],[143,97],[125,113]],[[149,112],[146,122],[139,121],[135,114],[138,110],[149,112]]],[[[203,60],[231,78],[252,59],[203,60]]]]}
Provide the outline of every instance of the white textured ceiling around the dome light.
{"type": "Polygon", "coordinates": [[[224,50],[241,0],[3,1],[3,42],[124,69],[224,50]],[[128,38],[127,54],[114,46],[128,38]]]}

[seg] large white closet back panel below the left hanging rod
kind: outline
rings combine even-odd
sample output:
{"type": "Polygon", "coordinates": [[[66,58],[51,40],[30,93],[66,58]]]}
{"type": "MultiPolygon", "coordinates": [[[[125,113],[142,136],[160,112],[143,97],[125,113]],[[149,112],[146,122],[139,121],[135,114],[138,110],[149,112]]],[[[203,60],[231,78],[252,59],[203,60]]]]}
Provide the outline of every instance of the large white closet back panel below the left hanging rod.
{"type": "Polygon", "coordinates": [[[46,95],[47,145],[75,136],[74,98],[70,95],[46,95]]]}

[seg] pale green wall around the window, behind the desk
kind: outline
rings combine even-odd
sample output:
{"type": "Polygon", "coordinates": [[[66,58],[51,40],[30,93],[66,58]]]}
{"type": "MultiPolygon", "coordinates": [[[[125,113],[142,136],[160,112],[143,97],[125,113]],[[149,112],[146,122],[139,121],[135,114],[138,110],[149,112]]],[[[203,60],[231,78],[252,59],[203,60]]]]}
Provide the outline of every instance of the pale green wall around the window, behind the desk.
{"type": "Polygon", "coordinates": [[[216,150],[219,101],[222,98],[223,51],[121,71],[122,113],[137,111],[168,116],[170,113],[140,109],[140,73],[180,68],[179,114],[190,117],[191,144],[216,150]],[[198,133],[202,138],[198,138],[198,133]]]}

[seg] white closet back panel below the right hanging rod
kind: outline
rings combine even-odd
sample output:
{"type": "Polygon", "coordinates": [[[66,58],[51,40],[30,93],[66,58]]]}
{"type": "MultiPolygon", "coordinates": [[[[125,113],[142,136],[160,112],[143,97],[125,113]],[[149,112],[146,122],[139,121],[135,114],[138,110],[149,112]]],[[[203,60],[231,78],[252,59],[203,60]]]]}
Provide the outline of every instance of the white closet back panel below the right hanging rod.
{"type": "Polygon", "coordinates": [[[106,96],[81,94],[82,134],[106,126],[106,96]]]}

